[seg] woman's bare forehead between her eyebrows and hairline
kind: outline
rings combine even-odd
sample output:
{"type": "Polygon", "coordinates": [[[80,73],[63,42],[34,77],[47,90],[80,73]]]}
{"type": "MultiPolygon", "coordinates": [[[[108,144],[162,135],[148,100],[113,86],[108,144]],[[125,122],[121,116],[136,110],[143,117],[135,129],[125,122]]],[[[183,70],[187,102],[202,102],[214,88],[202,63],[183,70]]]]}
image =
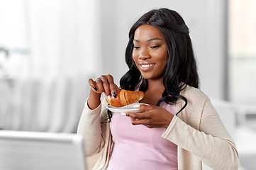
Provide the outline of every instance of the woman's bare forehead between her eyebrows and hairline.
{"type": "Polygon", "coordinates": [[[142,25],[135,30],[135,40],[148,40],[150,38],[160,38],[163,40],[162,34],[154,26],[142,25]]]}

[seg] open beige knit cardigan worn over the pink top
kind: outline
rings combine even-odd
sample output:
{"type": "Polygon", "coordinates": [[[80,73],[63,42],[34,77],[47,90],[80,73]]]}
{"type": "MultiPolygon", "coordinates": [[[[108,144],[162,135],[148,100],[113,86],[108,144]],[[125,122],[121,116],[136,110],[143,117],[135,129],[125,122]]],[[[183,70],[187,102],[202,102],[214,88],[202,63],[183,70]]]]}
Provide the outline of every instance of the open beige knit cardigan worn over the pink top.
{"type": "MultiPolygon", "coordinates": [[[[218,113],[208,96],[199,89],[187,86],[180,92],[187,98],[188,105],[174,116],[162,137],[178,146],[178,167],[180,170],[202,169],[201,162],[212,169],[238,169],[238,152],[218,113]]],[[[113,148],[109,123],[106,120],[106,101],[90,110],[84,106],[77,133],[84,137],[84,149],[87,157],[104,149],[94,169],[106,169],[109,153],[113,148]]],[[[177,100],[177,111],[184,101],[177,100]]]]}

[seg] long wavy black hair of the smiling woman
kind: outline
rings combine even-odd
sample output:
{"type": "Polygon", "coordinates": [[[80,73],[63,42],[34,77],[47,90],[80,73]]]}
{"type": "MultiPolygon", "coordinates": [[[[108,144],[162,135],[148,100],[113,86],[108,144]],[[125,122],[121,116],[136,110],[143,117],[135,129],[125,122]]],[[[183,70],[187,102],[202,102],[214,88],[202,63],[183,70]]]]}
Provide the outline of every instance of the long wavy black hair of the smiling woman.
{"type": "Polygon", "coordinates": [[[140,91],[145,92],[148,88],[148,81],[141,77],[140,71],[133,61],[135,30],[139,26],[146,24],[155,26],[160,30],[169,54],[163,73],[165,91],[162,94],[162,98],[157,102],[157,106],[160,106],[162,102],[174,104],[177,98],[182,98],[185,101],[185,105],[180,110],[182,111],[187,106],[187,98],[181,96],[179,92],[187,85],[199,88],[199,76],[189,37],[189,28],[187,28],[183,18],[176,11],[167,8],[153,9],[141,16],[130,28],[129,42],[126,47],[126,64],[128,64],[129,70],[120,80],[121,89],[134,91],[140,79],[142,79],[140,91]]]}

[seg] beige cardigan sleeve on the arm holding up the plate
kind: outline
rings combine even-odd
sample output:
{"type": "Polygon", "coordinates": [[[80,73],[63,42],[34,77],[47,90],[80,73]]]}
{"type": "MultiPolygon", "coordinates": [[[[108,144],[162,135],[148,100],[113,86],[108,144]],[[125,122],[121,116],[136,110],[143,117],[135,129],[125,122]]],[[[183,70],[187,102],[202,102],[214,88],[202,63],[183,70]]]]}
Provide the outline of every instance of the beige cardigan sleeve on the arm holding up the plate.
{"type": "Polygon", "coordinates": [[[201,116],[199,130],[174,116],[162,137],[191,152],[212,169],[238,169],[235,144],[208,97],[201,115],[204,113],[207,116],[201,116]]]}

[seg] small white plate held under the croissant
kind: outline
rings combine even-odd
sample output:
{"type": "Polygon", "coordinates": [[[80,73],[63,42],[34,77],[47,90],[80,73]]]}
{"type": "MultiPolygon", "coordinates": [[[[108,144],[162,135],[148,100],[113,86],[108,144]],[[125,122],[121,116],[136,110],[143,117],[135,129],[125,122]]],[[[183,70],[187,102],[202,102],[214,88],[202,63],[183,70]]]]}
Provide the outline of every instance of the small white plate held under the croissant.
{"type": "Polygon", "coordinates": [[[148,106],[150,106],[149,104],[146,104],[146,103],[133,103],[133,104],[130,104],[128,106],[123,106],[123,107],[120,107],[120,108],[116,108],[114,106],[108,105],[108,106],[106,106],[106,108],[108,108],[109,111],[116,112],[116,113],[124,113],[124,112],[140,113],[140,112],[143,112],[143,110],[135,108],[134,107],[135,105],[148,105],[148,106]]]}

